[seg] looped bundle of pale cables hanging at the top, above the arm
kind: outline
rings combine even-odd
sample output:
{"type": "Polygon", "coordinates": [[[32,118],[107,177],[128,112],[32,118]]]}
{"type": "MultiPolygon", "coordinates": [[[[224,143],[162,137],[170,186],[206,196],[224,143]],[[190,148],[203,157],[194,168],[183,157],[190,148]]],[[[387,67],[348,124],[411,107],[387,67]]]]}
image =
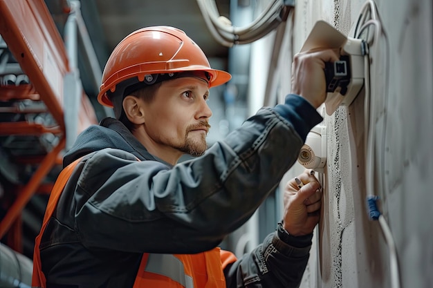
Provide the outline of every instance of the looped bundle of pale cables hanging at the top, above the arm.
{"type": "Polygon", "coordinates": [[[282,15],[288,15],[288,11],[284,9],[290,7],[286,6],[283,0],[273,0],[248,26],[239,28],[232,26],[230,19],[219,15],[214,0],[197,0],[197,3],[212,36],[227,47],[248,44],[264,37],[286,20],[282,15]]]}

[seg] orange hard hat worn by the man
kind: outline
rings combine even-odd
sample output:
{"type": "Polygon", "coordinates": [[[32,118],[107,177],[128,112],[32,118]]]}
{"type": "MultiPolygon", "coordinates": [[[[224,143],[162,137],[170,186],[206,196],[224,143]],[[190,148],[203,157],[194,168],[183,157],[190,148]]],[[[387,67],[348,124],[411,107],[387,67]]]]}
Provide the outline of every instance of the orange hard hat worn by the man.
{"type": "Polygon", "coordinates": [[[144,81],[147,75],[185,71],[207,72],[209,87],[224,84],[232,77],[210,68],[203,50],[183,30],[169,26],[141,28],[120,41],[111,53],[102,74],[98,102],[113,107],[109,95],[121,95],[124,89],[116,91],[116,86],[125,80],[130,86],[144,81]]]}

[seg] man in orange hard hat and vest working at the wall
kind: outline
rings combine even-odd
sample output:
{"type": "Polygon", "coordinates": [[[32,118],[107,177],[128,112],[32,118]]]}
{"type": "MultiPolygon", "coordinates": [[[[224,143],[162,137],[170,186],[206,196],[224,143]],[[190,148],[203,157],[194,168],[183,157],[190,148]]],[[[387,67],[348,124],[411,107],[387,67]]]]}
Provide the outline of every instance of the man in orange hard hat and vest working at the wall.
{"type": "Polygon", "coordinates": [[[53,189],[59,200],[35,246],[33,285],[44,285],[37,276],[63,288],[300,285],[321,199],[309,173],[302,189],[288,182],[284,218],[254,251],[236,259],[217,246],[277,188],[322,121],[324,62],[336,60],[332,50],[297,55],[296,95],[207,149],[209,88],[230,75],[176,28],[125,37],[98,96],[117,119],[89,127],[65,155],[64,166],[78,161],[59,177],[64,189],[53,189]],[[177,163],[184,153],[199,157],[177,163]]]}

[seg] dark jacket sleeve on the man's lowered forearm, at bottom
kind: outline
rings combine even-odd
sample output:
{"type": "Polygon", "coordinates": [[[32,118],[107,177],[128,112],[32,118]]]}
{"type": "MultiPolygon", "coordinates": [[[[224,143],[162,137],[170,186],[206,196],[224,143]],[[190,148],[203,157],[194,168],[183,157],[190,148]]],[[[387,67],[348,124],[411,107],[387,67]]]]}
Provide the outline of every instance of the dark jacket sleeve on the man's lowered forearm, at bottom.
{"type": "Polygon", "coordinates": [[[277,231],[270,233],[256,249],[225,267],[227,287],[299,287],[308,262],[312,236],[289,236],[279,223],[277,231]],[[297,247],[293,246],[294,243],[297,247]]]}

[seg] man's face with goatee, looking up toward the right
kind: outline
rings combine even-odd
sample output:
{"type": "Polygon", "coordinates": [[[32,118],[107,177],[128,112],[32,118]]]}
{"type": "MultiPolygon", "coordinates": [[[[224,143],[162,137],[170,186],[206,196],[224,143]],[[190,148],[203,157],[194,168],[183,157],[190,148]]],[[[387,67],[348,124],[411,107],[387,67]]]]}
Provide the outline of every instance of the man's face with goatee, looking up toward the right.
{"type": "Polygon", "coordinates": [[[144,128],[151,141],[165,151],[202,155],[212,111],[208,83],[195,77],[163,81],[151,103],[145,105],[144,128]]]}

